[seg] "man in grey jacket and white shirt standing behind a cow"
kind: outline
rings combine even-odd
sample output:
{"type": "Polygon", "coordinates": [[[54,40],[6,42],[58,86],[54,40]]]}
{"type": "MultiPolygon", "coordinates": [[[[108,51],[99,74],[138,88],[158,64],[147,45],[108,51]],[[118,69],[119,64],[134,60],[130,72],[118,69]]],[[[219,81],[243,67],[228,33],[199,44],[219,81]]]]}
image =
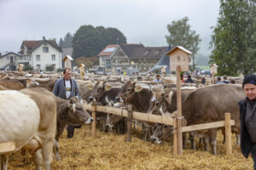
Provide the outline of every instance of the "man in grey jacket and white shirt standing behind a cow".
{"type": "MultiPolygon", "coordinates": [[[[65,68],[63,70],[63,78],[55,82],[53,94],[61,99],[70,99],[73,96],[78,96],[80,99],[77,82],[71,78],[71,70],[69,68],[65,68]]],[[[79,127],[81,126],[76,128],[79,127]]],[[[67,125],[67,138],[73,138],[74,128],[73,126],[67,125]]]]}

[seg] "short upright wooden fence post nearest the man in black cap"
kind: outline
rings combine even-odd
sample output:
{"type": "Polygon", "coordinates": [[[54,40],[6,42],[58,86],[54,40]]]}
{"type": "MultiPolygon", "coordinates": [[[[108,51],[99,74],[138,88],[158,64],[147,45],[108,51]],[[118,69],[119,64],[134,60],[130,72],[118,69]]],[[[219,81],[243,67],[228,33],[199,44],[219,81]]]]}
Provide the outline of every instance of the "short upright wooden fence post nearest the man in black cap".
{"type": "Polygon", "coordinates": [[[232,154],[230,113],[225,113],[226,155],[232,154]]]}

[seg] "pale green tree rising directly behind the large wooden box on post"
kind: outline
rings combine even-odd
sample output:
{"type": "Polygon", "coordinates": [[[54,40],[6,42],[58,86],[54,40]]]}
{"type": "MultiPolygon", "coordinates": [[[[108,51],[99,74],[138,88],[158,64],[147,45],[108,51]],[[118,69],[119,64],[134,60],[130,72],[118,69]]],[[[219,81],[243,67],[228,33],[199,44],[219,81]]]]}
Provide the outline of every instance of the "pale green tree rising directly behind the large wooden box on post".
{"type": "Polygon", "coordinates": [[[168,44],[172,47],[180,45],[189,49],[193,54],[197,53],[201,39],[199,34],[191,30],[188,17],[184,17],[182,20],[173,20],[171,25],[167,25],[167,29],[170,33],[169,36],[166,36],[168,44]]]}

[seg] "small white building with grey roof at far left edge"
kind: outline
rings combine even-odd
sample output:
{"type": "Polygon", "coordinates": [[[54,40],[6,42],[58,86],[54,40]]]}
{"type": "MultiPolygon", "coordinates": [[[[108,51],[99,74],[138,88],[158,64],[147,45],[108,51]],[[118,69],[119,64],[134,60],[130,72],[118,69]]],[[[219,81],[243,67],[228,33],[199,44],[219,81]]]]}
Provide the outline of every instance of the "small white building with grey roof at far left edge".
{"type": "Polygon", "coordinates": [[[0,54],[0,70],[2,71],[15,71],[17,61],[20,60],[20,55],[14,52],[7,52],[0,54]]]}

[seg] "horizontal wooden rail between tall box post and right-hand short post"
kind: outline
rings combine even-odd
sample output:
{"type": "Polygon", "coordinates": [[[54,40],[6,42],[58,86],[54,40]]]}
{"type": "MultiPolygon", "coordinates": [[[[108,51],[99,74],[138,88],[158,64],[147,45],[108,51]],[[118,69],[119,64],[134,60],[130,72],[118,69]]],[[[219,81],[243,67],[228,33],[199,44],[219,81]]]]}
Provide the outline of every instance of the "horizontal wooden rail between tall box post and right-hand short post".
{"type": "MultiPolygon", "coordinates": [[[[231,120],[230,125],[231,126],[235,125],[235,121],[231,120]]],[[[219,122],[209,122],[209,123],[204,123],[204,124],[192,125],[192,126],[188,126],[188,127],[182,127],[182,129],[183,129],[183,133],[185,133],[185,132],[190,132],[190,131],[204,130],[204,129],[209,129],[209,128],[224,127],[224,126],[225,126],[225,122],[219,121],[219,122]]]]}

